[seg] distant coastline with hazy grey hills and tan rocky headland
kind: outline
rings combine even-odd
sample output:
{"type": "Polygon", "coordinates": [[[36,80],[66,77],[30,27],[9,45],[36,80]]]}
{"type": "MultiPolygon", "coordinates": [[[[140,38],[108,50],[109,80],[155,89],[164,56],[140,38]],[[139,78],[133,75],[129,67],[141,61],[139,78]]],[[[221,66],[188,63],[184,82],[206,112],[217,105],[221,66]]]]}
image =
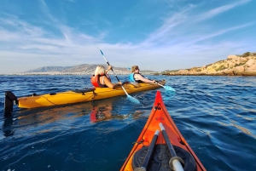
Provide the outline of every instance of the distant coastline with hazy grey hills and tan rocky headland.
{"type": "MultiPolygon", "coordinates": [[[[100,64],[102,65],[102,64],[100,64]]],[[[79,66],[44,66],[30,71],[12,74],[0,74],[2,76],[17,75],[93,75],[96,64],[83,64],[79,66]]],[[[107,65],[102,65],[106,66],[107,65]]],[[[117,75],[128,75],[131,71],[127,68],[114,67],[117,75]]],[[[171,71],[141,71],[147,75],[166,75],[166,76],[256,76],[256,53],[244,53],[229,55],[226,60],[219,60],[213,64],[190,69],[171,70],[171,71]]],[[[109,74],[113,74],[111,71],[109,74]]]]}

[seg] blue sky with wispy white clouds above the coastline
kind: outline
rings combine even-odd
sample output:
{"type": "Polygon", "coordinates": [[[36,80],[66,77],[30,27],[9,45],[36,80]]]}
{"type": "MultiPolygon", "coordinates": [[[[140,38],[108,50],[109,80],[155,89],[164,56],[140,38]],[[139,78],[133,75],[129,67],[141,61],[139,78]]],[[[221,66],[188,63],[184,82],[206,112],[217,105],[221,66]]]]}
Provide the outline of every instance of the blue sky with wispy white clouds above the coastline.
{"type": "Polygon", "coordinates": [[[256,52],[254,0],[0,0],[0,74],[104,64],[177,70],[256,52]]]}

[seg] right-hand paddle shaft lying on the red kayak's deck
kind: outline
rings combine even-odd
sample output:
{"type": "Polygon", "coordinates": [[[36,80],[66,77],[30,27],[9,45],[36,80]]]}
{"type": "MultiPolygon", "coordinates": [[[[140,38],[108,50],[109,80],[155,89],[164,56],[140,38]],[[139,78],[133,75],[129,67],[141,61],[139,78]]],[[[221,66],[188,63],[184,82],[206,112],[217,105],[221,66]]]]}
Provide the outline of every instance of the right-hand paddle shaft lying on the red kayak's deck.
{"type": "Polygon", "coordinates": [[[171,159],[169,161],[170,167],[172,168],[172,170],[175,170],[175,171],[184,171],[183,166],[180,163],[180,162],[183,162],[183,159],[181,157],[177,157],[177,154],[174,151],[172,143],[168,138],[168,134],[166,133],[166,128],[164,127],[164,125],[162,123],[159,123],[159,126],[160,126],[160,129],[164,136],[164,139],[166,141],[166,145],[171,153],[171,159]]]}

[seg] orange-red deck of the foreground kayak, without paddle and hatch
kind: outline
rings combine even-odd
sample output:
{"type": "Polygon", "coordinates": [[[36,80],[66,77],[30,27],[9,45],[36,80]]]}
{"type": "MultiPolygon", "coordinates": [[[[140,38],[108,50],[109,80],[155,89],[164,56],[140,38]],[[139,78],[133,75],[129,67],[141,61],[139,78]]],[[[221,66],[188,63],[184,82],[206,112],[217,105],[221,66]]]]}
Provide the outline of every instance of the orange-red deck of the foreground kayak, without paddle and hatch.
{"type": "MultiPolygon", "coordinates": [[[[132,171],[134,169],[135,166],[132,167],[132,165],[135,165],[134,161],[136,159],[133,159],[133,157],[144,146],[150,145],[151,140],[154,137],[155,131],[160,130],[159,123],[162,123],[163,126],[166,128],[166,133],[167,133],[172,145],[175,146],[176,149],[182,148],[181,149],[182,151],[189,153],[190,154],[189,156],[195,159],[194,164],[196,165],[196,168],[195,169],[193,168],[192,170],[198,170],[198,171],[206,170],[206,168],[204,168],[204,166],[200,162],[199,158],[196,157],[195,152],[190,148],[187,141],[183,138],[183,135],[179,132],[175,123],[172,121],[172,117],[166,110],[166,105],[164,104],[164,102],[162,100],[160,91],[157,91],[157,93],[156,93],[153,109],[151,111],[151,114],[148,117],[148,121],[145,124],[142,133],[139,135],[139,137],[137,139],[137,143],[133,146],[129,156],[127,157],[124,165],[122,166],[122,168],[120,170],[121,171],[132,171]]],[[[158,139],[155,144],[156,145],[166,145],[166,141],[165,141],[161,131],[160,131],[160,134],[159,134],[158,139]]],[[[178,156],[178,153],[177,153],[177,156],[178,156]]],[[[191,159],[189,159],[189,161],[190,160],[191,159]]],[[[169,165],[165,166],[165,167],[169,167],[169,165]]],[[[185,163],[183,164],[183,168],[184,168],[184,170],[190,170],[190,169],[187,169],[187,168],[191,168],[190,163],[187,164],[187,162],[185,161],[185,163]]],[[[162,170],[162,168],[160,170],[162,170]]],[[[171,170],[171,169],[166,168],[166,170],[171,170]]]]}

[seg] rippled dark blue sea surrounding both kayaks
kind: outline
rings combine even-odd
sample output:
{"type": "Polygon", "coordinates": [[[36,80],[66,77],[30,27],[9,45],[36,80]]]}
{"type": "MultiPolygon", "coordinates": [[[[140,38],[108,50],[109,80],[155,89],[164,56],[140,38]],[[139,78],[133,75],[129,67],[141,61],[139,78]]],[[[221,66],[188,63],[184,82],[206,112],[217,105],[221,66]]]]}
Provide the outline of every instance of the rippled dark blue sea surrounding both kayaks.
{"type": "MultiPolygon", "coordinates": [[[[4,92],[17,97],[91,87],[90,76],[0,76],[0,170],[119,170],[152,109],[156,90],[75,105],[14,108],[3,117],[4,92]],[[108,113],[95,122],[93,106],[108,113]]],[[[119,76],[125,81],[127,76],[119,76]]],[[[256,77],[167,77],[159,88],[180,132],[207,170],[256,170],[256,77]]],[[[113,77],[113,80],[114,77],[113,77]]]]}

